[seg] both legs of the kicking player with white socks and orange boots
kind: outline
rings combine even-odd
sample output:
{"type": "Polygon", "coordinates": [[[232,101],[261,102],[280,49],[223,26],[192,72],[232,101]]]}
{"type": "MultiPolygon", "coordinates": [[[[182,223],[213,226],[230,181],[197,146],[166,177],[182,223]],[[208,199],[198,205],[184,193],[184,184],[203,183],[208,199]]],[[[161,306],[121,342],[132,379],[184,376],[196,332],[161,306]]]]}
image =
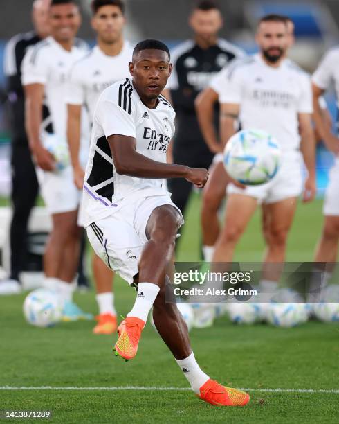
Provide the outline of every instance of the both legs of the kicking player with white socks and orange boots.
{"type": "Polygon", "coordinates": [[[138,266],[138,281],[149,282],[138,283],[134,307],[119,326],[114,350],[125,360],[136,356],[147,315],[153,306],[154,325],[197,396],[212,405],[244,406],[250,400],[248,394],[220,385],[200,369],[190,347],[187,325],[175,300],[166,303],[166,293],[167,301],[168,297],[173,297],[166,268],[174,251],[180,222],[181,217],[173,206],[159,206],[152,212],[146,227],[149,241],[138,266]]]}

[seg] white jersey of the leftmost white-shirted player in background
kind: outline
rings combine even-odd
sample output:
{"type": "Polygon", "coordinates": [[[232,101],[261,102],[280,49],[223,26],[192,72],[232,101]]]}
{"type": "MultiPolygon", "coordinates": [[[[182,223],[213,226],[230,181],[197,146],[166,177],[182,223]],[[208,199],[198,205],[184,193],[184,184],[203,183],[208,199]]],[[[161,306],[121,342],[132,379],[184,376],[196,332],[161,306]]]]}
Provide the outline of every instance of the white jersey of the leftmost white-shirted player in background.
{"type": "MultiPolygon", "coordinates": [[[[21,67],[22,84],[43,84],[45,90],[47,109],[41,129],[43,141],[44,135],[49,133],[66,143],[68,74],[73,64],[88,51],[82,40],[76,39],[71,51],[66,51],[53,37],[48,37],[26,53],[21,67]]],[[[82,139],[88,139],[88,134],[88,120],[82,119],[82,139]]]]}

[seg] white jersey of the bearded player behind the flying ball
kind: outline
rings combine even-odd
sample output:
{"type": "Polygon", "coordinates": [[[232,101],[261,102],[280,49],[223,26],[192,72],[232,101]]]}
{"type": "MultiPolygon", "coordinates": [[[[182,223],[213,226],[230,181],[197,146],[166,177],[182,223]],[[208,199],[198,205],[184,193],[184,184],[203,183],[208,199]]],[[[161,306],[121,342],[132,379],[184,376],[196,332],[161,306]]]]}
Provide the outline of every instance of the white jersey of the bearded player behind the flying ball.
{"type": "Polygon", "coordinates": [[[259,129],[279,141],[282,152],[300,147],[298,114],[313,112],[311,78],[291,60],[270,67],[259,54],[232,62],[210,87],[220,103],[240,105],[243,130],[259,129]]]}

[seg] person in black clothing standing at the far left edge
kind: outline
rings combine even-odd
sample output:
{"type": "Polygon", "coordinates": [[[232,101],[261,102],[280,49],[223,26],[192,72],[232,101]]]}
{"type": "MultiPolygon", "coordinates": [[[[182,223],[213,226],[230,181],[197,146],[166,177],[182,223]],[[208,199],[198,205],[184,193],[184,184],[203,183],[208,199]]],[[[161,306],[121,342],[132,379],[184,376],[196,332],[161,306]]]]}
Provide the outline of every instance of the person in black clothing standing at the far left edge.
{"type": "Polygon", "coordinates": [[[51,0],[33,2],[32,20],[34,30],[12,37],[6,45],[4,73],[11,107],[12,132],[12,222],[10,223],[10,275],[0,281],[0,294],[21,291],[19,274],[24,268],[26,256],[27,225],[39,185],[33,165],[24,118],[24,90],[21,85],[21,62],[26,50],[50,33],[48,8],[51,0]]]}

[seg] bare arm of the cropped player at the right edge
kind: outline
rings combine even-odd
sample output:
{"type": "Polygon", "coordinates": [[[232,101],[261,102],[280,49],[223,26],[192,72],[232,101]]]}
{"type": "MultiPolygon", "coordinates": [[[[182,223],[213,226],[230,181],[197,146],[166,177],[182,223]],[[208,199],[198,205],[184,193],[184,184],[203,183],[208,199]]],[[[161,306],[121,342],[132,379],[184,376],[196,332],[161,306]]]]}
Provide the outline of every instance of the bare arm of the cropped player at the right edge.
{"type": "Polygon", "coordinates": [[[331,152],[334,154],[339,154],[339,141],[338,138],[332,134],[331,127],[326,125],[322,110],[320,108],[319,98],[324,93],[324,90],[318,87],[317,85],[312,84],[313,90],[313,121],[315,123],[315,128],[320,136],[320,139],[324,141],[325,145],[331,152]]]}

